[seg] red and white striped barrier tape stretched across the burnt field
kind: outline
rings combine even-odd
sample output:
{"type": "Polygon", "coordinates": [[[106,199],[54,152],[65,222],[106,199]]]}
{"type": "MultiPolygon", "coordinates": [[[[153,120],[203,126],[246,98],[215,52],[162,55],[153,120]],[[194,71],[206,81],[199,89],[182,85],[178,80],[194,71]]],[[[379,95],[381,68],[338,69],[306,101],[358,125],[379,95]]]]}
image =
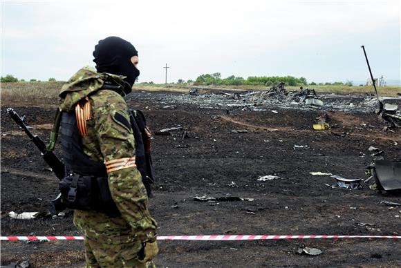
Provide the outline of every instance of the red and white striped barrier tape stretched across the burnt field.
{"type": "MultiPolygon", "coordinates": [[[[234,241],[234,240],[277,240],[277,239],[326,239],[326,238],[387,238],[401,239],[401,236],[242,236],[242,235],[212,235],[212,236],[158,236],[158,240],[203,240],[203,241],[234,241]]],[[[0,236],[0,240],[84,240],[82,236],[0,236]]]]}

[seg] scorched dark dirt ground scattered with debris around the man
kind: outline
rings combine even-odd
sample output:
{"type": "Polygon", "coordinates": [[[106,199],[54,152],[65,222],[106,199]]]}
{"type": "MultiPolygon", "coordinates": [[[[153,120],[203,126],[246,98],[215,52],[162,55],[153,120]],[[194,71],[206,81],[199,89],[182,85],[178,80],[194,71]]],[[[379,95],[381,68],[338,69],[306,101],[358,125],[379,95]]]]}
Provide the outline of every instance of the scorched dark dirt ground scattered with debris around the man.
{"type": "MultiPolygon", "coordinates": [[[[400,236],[400,192],[331,188],[335,179],[366,178],[373,160],[369,146],[386,160],[401,160],[400,130],[382,131],[374,113],[274,108],[243,111],[165,99],[174,93],[133,93],[151,130],[183,126],[173,135],[154,135],[151,213],[160,236],[198,234],[382,235],[400,236]],[[165,107],[165,108],[163,108],[165,107]],[[314,131],[315,118],[328,114],[334,127],[314,131]],[[248,130],[248,133],[235,133],[248,130]],[[306,148],[294,148],[307,145],[306,148]],[[258,181],[263,175],[279,178],[258,181]],[[328,185],[326,185],[328,184],[328,185]],[[198,202],[194,196],[238,196],[253,201],[198,202]]],[[[57,195],[58,180],[39,151],[1,106],[1,236],[80,236],[72,211],[66,218],[13,220],[8,212],[42,211],[57,195]]],[[[32,132],[48,139],[55,106],[15,106],[32,132]]],[[[57,149],[58,150],[58,149],[57,149]]],[[[56,151],[57,155],[61,155],[56,151]]],[[[399,240],[160,241],[158,267],[401,267],[399,240]],[[319,256],[295,253],[305,245],[319,256]]],[[[1,242],[1,265],[29,260],[30,267],[84,267],[81,241],[1,242]]]]}

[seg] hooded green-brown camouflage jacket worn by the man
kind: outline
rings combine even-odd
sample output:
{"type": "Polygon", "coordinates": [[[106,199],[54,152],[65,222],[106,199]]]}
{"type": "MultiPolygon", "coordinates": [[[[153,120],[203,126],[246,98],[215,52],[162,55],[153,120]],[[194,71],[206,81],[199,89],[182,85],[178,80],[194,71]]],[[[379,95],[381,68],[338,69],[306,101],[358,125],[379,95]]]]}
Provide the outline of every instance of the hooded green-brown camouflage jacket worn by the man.
{"type": "MultiPolygon", "coordinates": [[[[91,119],[86,121],[87,134],[82,137],[82,149],[91,160],[106,162],[135,156],[131,128],[114,117],[115,113],[120,113],[129,122],[126,102],[113,90],[100,90],[106,79],[121,85],[122,78],[84,67],[60,91],[60,111],[71,113],[82,99],[88,97],[90,101],[91,119]]],[[[112,218],[97,211],[75,210],[75,225],[87,238],[107,243],[153,242],[157,224],[147,209],[147,192],[138,169],[111,171],[108,179],[111,196],[121,216],[112,218]]]]}

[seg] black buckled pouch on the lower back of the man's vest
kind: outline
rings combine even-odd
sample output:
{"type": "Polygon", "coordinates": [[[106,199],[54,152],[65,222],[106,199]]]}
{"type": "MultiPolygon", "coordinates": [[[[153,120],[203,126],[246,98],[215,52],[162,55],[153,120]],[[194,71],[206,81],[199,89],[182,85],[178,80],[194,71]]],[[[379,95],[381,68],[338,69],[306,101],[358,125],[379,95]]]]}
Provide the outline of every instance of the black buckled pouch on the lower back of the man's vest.
{"type": "Polygon", "coordinates": [[[59,183],[62,200],[69,209],[93,209],[95,191],[93,177],[79,174],[67,175],[59,183]]]}

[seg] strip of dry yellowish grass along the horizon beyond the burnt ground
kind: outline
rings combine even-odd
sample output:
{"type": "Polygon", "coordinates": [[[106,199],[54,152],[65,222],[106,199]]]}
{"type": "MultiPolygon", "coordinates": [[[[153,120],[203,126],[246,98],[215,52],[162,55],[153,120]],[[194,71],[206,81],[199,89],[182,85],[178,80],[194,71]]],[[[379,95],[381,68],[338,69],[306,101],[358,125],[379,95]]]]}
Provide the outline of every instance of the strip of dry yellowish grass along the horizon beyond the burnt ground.
{"type": "MultiPolygon", "coordinates": [[[[63,82],[19,82],[1,83],[1,105],[57,105],[58,93],[63,82]]],[[[176,84],[165,85],[135,85],[133,90],[167,91],[187,93],[192,86],[180,86],[176,84]]],[[[243,90],[265,90],[265,86],[211,86],[212,88],[236,88],[243,90]]],[[[317,93],[336,94],[374,94],[373,86],[305,86],[314,88],[317,93]]],[[[288,87],[290,90],[299,90],[298,86],[288,87]]],[[[377,88],[380,96],[394,97],[401,93],[401,86],[387,86],[377,88]]]]}

